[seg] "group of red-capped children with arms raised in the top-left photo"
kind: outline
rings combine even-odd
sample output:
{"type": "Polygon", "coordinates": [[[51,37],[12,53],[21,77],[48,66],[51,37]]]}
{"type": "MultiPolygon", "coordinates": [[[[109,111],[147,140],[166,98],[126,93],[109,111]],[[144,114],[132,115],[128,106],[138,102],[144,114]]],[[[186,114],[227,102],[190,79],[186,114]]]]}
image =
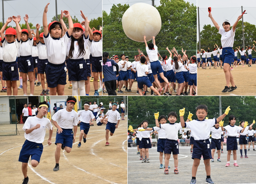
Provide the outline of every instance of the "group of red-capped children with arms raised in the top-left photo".
{"type": "Polygon", "coordinates": [[[21,17],[13,16],[7,19],[0,30],[0,75],[3,89],[7,88],[9,96],[12,95],[12,89],[13,95],[18,95],[19,70],[24,95],[27,95],[27,77],[30,83],[30,95],[34,94],[35,72],[41,80],[39,84],[42,86],[41,95],[64,95],[68,69],[73,96],[78,95],[78,88],[81,96],[89,95],[91,71],[94,76],[94,95],[98,96],[99,74],[102,81],[102,29],[98,31],[93,28],[92,31],[89,27],[90,21],[82,11],[81,16],[84,21],[81,24],[73,23],[69,11],[64,10],[61,11],[60,22],[53,21],[48,25],[49,4],[44,9],[44,32],[41,34],[39,34],[39,24],[36,25],[36,34],[31,31],[27,14],[24,17],[27,29],[21,30],[19,26],[21,17]],[[69,28],[66,27],[63,17],[68,18],[69,28]],[[9,27],[5,31],[12,20],[16,23],[16,29],[9,27]]]}

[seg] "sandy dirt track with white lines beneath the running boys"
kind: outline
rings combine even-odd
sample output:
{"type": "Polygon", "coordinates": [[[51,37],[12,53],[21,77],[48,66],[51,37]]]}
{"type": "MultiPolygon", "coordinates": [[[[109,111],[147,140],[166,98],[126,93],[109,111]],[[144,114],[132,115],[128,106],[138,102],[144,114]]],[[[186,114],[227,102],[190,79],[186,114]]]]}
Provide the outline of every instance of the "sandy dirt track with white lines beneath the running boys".
{"type": "MultiPolygon", "coordinates": [[[[127,117],[120,120],[110,146],[105,146],[105,126],[90,127],[87,142],[78,148],[80,127],[71,153],[61,150],[59,171],[54,172],[56,127],[52,145],[47,145],[49,131],[43,142],[44,150],[39,165],[27,168],[31,184],[127,184],[127,117]]],[[[25,141],[23,124],[18,124],[19,136],[0,136],[0,184],[22,183],[23,174],[18,157],[25,141]]],[[[15,124],[0,124],[0,135],[15,131],[15,124]],[[4,132],[3,132],[4,131],[4,132]]]]}

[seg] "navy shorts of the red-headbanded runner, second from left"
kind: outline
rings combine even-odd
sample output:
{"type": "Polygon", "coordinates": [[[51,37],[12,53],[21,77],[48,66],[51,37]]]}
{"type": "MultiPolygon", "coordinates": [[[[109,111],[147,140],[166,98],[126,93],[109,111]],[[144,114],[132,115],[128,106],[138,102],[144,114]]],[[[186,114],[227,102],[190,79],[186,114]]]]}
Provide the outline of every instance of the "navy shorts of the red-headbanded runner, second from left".
{"type": "Polygon", "coordinates": [[[63,144],[63,147],[67,146],[69,148],[72,148],[73,130],[65,129],[65,128],[62,128],[62,130],[63,130],[62,133],[60,133],[60,134],[56,133],[55,145],[57,145],[57,143],[61,143],[61,144],[63,144]]]}

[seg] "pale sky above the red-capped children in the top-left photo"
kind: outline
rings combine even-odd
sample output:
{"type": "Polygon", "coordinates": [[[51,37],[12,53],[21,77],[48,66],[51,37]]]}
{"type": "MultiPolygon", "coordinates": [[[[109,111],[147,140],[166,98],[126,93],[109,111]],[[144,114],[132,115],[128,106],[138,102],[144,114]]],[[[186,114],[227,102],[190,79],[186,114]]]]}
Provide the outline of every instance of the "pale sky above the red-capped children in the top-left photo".
{"type": "MultiPolygon", "coordinates": [[[[2,0],[0,0],[2,1],[2,0]]],[[[47,12],[47,22],[50,23],[50,20],[55,16],[55,0],[8,0],[4,1],[4,17],[5,22],[8,17],[11,16],[21,16],[20,24],[24,24],[25,14],[28,15],[28,22],[31,22],[34,26],[37,23],[42,26],[42,17],[45,6],[47,3],[50,3],[48,6],[47,12]]],[[[3,21],[2,14],[2,2],[0,2],[0,22],[3,21]]],[[[76,16],[79,22],[82,22],[80,10],[84,15],[89,19],[102,17],[102,0],[57,0],[57,14],[61,13],[61,10],[68,10],[72,18],[76,16]]],[[[16,26],[15,22],[10,22],[9,25],[16,26]]]]}

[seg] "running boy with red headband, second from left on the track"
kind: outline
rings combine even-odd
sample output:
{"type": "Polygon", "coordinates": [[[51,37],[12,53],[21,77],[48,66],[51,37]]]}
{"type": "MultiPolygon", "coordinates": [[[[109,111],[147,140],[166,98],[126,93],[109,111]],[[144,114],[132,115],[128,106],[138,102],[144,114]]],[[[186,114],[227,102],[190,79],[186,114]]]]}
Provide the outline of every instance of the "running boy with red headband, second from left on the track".
{"type": "Polygon", "coordinates": [[[57,130],[55,145],[56,165],[53,171],[59,171],[60,149],[65,149],[67,153],[71,152],[72,145],[75,142],[78,129],[78,114],[73,110],[77,99],[73,96],[67,98],[66,109],[58,110],[51,118],[52,123],[57,130]],[[58,121],[58,123],[57,123],[58,121]],[[73,132],[74,127],[74,132],[73,132]]]}

